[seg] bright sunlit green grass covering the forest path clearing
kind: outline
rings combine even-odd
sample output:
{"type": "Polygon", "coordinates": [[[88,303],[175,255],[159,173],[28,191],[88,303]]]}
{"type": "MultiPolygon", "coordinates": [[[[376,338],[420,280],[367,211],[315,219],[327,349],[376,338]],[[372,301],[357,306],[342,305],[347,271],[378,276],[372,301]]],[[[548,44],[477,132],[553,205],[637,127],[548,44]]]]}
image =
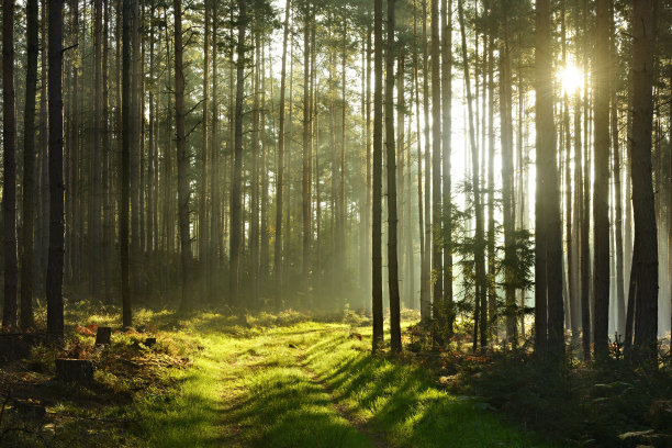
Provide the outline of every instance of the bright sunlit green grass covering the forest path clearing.
{"type": "Polygon", "coordinates": [[[345,324],[193,315],[170,331],[203,349],[175,394],[135,406],[147,447],[551,447],[426,370],[369,350],[345,324]]]}

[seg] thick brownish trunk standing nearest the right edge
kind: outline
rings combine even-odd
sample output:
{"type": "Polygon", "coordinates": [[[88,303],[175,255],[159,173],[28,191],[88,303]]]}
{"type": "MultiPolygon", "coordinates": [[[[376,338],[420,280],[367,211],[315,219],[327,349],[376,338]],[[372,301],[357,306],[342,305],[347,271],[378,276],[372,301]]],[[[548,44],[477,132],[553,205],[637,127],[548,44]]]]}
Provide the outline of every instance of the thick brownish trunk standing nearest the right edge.
{"type": "Polygon", "coordinates": [[[654,362],[658,336],[658,238],[651,176],[653,3],[636,0],[632,5],[632,214],[635,220],[635,348],[637,356],[654,362]]]}

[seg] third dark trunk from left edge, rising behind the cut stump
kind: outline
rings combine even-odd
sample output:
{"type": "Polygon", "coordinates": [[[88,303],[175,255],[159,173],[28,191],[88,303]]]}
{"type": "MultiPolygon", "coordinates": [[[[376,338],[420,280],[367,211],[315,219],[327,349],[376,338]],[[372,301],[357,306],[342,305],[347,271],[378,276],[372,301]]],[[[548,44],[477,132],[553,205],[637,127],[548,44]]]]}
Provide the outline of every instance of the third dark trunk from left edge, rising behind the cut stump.
{"type": "MultiPolygon", "coordinates": [[[[46,275],[47,333],[63,338],[63,0],[48,2],[49,45],[49,257],[46,275]]],[[[7,108],[7,103],[5,103],[7,108]]]]}

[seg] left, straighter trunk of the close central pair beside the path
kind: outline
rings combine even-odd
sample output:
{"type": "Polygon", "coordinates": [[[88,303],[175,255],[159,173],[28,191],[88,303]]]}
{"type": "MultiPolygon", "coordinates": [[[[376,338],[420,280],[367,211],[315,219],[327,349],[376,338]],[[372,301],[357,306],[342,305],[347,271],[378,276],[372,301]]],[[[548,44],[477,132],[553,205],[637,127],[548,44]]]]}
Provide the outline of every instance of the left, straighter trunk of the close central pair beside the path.
{"type": "Polygon", "coordinates": [[[373,212],[371,221],[371,284],[373,312],[373,351],[383,341],[382,310],[382,0],[373,3],[373,212]]]}

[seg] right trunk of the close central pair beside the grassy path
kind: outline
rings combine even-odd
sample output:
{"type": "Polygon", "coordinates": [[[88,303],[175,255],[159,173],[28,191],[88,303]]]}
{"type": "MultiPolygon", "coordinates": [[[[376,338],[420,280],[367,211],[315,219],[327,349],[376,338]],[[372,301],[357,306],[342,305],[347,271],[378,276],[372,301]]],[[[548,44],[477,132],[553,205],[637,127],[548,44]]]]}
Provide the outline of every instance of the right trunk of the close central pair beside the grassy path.
{"type": "Polygon", "coordinates": [[[401,352],[401,299],[399,296],[399,261],[396,253],[396,152],[394,145],[395,54],[394,0],[388,0],[388,46],[385,49],[385,148],[388,150],[388,280],[390,284],[390,345],[393,352],[401,352]]]}

